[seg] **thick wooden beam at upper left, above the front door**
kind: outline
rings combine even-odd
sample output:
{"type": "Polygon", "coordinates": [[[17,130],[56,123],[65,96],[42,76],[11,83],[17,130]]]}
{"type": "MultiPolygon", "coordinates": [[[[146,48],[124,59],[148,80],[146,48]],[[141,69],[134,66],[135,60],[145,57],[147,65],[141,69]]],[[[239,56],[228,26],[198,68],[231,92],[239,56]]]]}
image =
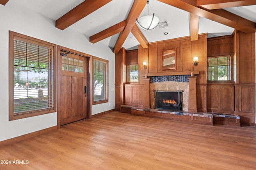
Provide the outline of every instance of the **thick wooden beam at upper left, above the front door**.
{"type": "Polygon", "coordinates": [[[55,21],[55,27],[64,30],[112,0],[85,0],[55,21]]]}

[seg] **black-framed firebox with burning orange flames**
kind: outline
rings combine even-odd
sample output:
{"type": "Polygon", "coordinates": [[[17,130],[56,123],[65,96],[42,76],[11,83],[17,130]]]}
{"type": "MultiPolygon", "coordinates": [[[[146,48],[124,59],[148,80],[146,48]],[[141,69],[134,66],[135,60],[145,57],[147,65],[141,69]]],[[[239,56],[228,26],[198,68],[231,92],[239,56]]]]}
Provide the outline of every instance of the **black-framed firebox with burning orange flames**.
{"type": "Polygon", "coordinates": [[[182,110],[182,92],[178,91],[154,91],[155,107],[157,109],[182,110]]]}

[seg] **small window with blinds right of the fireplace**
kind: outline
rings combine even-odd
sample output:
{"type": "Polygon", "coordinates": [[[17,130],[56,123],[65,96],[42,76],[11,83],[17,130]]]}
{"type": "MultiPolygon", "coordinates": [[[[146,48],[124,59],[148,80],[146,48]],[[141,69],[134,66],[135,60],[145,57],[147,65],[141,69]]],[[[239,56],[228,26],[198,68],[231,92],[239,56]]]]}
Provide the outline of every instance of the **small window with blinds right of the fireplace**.
{"type": "Polygon", "coordinates": [[[208,81],[231,80],[231,57],[208,57],[207,58],[208,81]]]}

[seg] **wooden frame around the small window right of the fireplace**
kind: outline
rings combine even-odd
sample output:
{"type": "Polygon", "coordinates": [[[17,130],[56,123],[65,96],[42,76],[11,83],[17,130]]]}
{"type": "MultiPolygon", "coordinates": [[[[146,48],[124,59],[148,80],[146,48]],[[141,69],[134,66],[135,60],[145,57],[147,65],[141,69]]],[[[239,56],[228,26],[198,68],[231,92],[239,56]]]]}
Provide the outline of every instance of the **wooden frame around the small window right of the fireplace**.
{"type": "Polygon", "coordinates": [[[220,55],[220,56],[208,56],[206,60],[207,65],[207,82],[208,83],[232,83],[233,82],[233,72],[234,72],[234,64],[233,64],[233,58],[232,55],[220,55]],[[221,57],[230,57],[230,80],[209,80],[209,66],[208,66],[208,59],[209,58],[221,58],[221,57]]]}

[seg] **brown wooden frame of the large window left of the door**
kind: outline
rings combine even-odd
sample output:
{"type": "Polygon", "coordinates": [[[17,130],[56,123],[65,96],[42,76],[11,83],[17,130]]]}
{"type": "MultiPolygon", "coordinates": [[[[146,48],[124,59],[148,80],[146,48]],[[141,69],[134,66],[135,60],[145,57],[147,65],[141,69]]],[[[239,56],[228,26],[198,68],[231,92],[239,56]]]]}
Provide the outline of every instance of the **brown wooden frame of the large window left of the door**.
{"type": "MultiPolygon", "coordinates": [[[[56,69],[57,69],[57,45],[53,43],[49,43],[40,39],[36,39],[33,37],[29,37],[27,35],[23,35],[20,33],[16,33],[13,31],[9,31],[9,121],[16,120],[16,119],[23,119],[26,117],[33,117],[37,115],[43,115],[48,113],[54,113],[56,112],[56,69]],[[53,78],[54,82],[52,82],[52,89],[53,93],[53,108],[52,109],[43,109],[43,110],[35,110],[35,111],[28,111],[28,113],[21,112],[14,114],[14,39],[22,40],[27,43],[34,43],[36,45],[40,46],[46,46],[46,47],[52,47],[53,50],[53,57],[51,58],[53,60],[53,78]]],[[[48,86],[50,88],[50,86],[48,86]]]]}

